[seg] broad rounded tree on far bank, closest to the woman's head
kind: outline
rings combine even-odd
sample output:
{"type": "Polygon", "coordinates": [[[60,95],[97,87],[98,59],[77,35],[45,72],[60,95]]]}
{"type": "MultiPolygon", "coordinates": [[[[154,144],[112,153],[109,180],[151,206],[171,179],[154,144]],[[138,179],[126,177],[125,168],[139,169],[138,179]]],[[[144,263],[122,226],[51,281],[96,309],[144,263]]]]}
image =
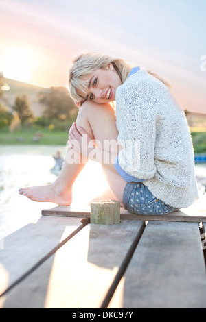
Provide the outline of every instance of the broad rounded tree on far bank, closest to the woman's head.
{"type": "Polygon", "coordinates": [[[77,113],[77,108],[67,88],[62,86],[51,87],[40,92],[38,102],[45,104],[45,116],[50,120],[69,120],[77,113]]]}

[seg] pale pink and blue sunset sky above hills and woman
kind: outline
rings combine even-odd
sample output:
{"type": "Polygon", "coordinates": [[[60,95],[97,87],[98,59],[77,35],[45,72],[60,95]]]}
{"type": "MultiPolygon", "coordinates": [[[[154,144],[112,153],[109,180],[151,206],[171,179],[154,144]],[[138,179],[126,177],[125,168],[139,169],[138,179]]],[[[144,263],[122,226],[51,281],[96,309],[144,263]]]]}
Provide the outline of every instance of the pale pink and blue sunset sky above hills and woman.
{"type": "Polygon", "coordinates": [[[158,73],[184,110],[206,113],[206,0],[0,0],[0,71],[66,86],[95,51],[158,73]]]}

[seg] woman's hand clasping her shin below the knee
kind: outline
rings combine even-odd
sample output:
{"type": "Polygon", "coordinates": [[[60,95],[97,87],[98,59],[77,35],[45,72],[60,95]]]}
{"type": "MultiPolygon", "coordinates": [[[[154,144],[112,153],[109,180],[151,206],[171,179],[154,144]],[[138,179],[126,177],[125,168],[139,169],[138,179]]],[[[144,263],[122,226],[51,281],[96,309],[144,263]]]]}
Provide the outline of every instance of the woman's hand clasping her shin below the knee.
{"type": "Polygon", "coordinates": [[[73,123],[69,129],[69,147],[83,156],[88,156],[89,152],[95,148],[94,140],[83,127],[77,126],[76,123],[73,123]]]}

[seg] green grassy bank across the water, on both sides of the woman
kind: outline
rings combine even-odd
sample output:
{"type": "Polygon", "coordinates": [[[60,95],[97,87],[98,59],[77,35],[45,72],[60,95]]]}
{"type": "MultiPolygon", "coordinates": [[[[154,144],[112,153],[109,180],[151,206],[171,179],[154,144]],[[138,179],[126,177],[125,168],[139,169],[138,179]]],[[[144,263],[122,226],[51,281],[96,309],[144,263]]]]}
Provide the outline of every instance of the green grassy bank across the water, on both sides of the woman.
{"type": "MultiPolygon", "coordinates": [[[[1,145],[65,145],[68,131],[48,128],[19,129],[10,132],[8,129],[0,130],[1,145]]],[[[195,153],[206,153],[206,132],[192,132],[195,153]]]]}

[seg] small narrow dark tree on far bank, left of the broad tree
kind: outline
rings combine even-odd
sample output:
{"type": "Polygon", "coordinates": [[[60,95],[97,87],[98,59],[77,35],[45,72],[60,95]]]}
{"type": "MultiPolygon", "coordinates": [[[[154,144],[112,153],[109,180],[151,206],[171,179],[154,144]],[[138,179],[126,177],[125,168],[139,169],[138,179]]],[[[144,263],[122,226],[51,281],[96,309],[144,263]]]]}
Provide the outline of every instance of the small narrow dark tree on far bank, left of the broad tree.
{"type": "Polygon", "coordinates": [[[22,125],[25,121],[31,121],[34,118],[27,95],[25,94],[16,97],[13,109],[18,114],[22,125]]]}

